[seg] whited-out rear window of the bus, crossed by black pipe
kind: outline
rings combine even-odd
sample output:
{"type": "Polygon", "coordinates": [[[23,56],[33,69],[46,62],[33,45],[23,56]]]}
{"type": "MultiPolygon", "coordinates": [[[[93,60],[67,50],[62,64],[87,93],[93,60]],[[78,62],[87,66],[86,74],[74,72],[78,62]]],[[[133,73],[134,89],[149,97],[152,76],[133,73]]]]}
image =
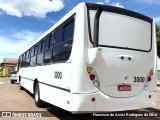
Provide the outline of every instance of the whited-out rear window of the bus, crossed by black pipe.
{"type": "MultiPolygon", "coordinates": [[[[91,35],[97,10],[89,10],[91,35]]],[[[102,11],[99,18],[98,46],[138,51],[151,50],[152,24],[136,17],[102,11]]]]}

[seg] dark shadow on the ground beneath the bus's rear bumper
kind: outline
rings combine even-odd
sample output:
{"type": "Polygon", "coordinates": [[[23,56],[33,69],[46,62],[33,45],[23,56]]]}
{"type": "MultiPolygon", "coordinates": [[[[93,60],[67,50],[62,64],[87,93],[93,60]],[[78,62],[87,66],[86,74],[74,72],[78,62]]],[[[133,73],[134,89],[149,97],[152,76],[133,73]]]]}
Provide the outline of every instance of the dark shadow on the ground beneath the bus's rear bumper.
{"type": "MultiPolygon", "coordinates": [[[[140,110],[129,110],[129,111],[119,111],[119,112],[108,112],[108,114],[113,113],[115,114],[145,114],[145,113],[156,113],[158,116],[141,116],[141,117],[136,117],[136,116],[95,116],[93,113],[87,113],[87,114],[72,114],[71,112],[68,112],[66,110],[63,110],[61,108],[58,108],[54,105],[48,104],[47,103],[47,111],[52,115],[52,117],[57,117],[60,120],[89,120],[89,119],[101,119],[101,120],[106,120],[106,119],[114,119],[114,120],[137,120],[137,118],[139,120],[150,120],[152,118],[152,120],[156,120],[157,117],[160,116],[160,110],[155,109],[155,108],[147,108],[147,109],[140,109],[140,110]]],[[[107,112],[104,112],[104,114],[107,112]]],[[[100,113],[101,114],[101,113],[100,113]]]]}

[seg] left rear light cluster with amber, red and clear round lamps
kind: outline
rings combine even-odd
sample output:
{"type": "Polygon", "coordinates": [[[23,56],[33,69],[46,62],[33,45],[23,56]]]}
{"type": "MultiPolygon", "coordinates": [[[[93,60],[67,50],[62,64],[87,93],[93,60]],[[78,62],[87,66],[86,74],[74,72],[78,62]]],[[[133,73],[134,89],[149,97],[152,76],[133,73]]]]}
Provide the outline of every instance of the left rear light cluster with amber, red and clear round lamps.
{"type": "Polygon", "coordinates": [[[88,67],[87,72],[89,74],[90,80],[93,81],[93,85],[99,88],[100,84],[99,84],[98,76],[96,75],[95,70],[92,67],[88,67]]]}

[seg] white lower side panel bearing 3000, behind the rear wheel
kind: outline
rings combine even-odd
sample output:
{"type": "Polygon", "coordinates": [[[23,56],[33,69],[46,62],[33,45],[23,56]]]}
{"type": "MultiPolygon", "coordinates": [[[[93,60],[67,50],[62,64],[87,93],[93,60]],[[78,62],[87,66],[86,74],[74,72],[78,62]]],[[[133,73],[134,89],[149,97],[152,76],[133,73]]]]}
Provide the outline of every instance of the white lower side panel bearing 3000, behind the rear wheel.
{"type": "MultiPolygon", "coordinates": [[[[71,63],[57,63],[43,66],[43,75],[39,75],[40,98],[43,101],[70,110],[72,94],[71,63]]],[[[38,69],[37,69],[37,73],[38,69]]],[[[37,75],[38,76],[38,75],[37,75]]]]}

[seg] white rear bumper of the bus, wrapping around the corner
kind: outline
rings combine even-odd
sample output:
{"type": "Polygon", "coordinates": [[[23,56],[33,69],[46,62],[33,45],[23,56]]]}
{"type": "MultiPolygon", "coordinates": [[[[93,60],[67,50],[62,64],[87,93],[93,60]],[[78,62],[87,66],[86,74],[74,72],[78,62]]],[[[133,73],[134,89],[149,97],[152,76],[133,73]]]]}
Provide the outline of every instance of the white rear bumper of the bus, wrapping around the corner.
{"type": "Polygon", "coordinates": [[[92,94],[73,94],[72,113],[125,111],[154,107],[157,93],[144,90],[129,98],[115,98],[101,91],[92,94]],[[95,101],[92,101],[95,98],[95,101]]]}

